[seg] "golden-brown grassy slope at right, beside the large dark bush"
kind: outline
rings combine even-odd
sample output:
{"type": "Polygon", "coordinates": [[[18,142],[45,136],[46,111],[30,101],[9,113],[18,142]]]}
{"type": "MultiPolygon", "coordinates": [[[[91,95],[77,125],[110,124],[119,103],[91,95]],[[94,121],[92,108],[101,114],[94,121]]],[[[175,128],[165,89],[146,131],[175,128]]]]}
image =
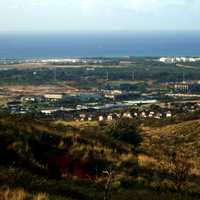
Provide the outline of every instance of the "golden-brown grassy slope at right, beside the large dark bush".
{"type": "Polygon", "coordinates": [[[143,167],[153,170],[158,177],[160,172],[168,173],[164,180],[170,188],[178,187],[179,190],[182,188],[184,191],[198,193],[200,120],[159,128],[143,127],[142,135],[143,167]]]}

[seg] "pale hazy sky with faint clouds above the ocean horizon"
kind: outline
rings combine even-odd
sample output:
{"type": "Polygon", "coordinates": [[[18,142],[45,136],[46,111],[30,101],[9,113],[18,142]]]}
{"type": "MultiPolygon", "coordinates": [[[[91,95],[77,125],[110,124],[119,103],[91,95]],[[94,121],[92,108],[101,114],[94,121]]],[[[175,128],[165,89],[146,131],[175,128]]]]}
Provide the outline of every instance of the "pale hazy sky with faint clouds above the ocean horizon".
{"type": "Polygon", "coordinates": [[[200,0],[0,0],[0,31],[200,30],[200,0]]]}

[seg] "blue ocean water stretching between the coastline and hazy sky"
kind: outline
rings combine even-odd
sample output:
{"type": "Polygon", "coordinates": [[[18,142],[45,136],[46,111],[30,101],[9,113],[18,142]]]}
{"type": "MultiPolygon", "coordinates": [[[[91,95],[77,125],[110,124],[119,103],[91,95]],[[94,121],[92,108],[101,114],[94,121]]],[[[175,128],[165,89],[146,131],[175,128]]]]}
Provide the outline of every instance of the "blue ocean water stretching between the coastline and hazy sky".
{"type": "Polygon", "coordinates": [[[200,32],[0,33],[0,58],[200,56],[200,32]]]}

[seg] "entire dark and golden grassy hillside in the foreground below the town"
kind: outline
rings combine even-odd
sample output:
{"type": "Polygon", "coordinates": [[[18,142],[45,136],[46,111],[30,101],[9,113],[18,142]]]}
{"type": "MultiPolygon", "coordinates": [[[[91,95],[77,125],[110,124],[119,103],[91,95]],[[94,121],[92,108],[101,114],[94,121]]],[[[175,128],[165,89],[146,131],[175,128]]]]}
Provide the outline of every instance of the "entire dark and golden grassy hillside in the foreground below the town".
{"type": "Polygon", "coordinates": [[[199,199],[199,137],[200,120],[152,128],[1,114],[0,195],[199,199]]]}

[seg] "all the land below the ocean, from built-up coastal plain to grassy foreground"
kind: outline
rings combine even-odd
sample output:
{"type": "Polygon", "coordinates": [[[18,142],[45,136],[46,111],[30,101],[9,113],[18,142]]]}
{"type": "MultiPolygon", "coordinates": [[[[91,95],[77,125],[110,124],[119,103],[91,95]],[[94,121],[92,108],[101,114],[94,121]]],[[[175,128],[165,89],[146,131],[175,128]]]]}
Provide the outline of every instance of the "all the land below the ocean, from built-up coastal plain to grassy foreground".
{"type": "Polygon", "coordinates": [[[200,199],[197,58],[0,67],[0,197],[200,199]]]}

